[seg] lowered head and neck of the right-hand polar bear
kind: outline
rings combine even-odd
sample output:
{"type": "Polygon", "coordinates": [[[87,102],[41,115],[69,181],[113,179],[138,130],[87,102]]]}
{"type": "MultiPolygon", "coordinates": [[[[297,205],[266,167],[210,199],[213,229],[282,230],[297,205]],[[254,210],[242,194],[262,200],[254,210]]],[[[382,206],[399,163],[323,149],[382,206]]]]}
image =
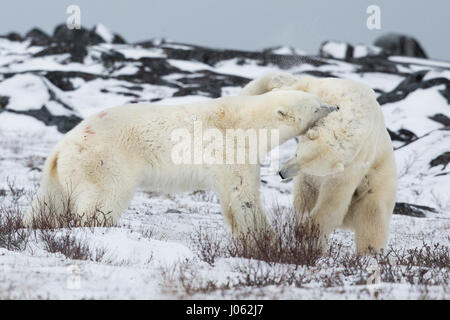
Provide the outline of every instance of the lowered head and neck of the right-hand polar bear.
{"type": "Polygon", "coordinates": [[[299,137],[297,155],[284,165],[280,175],[290,178],[302,172],[329,176],[344,171],[361,148],[378,136],[374,130],[382,123],[382,114],[373,90],[351,80],[312,77],[299,78],[294,87],[336,103],[341,110],[299,137]]]}

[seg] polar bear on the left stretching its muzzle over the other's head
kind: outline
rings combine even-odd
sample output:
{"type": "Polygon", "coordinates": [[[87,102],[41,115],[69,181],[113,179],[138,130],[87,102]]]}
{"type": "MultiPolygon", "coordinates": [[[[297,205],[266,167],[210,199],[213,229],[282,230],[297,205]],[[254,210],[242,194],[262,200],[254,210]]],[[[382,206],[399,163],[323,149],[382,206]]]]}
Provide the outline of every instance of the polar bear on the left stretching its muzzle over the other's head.
{"type": "MultiPolygon", "coordinates": [[[[25,224],[33,226],[48,199],[54,202],[57,214],[62,212],[69,194],[73,212],[87,225],[89,215],[97,211],[115,224],[135,190],[143,188],[160,193],[211,189],[218,192],[222,212],[234,233],[267,227],[259,197],[259,159],[336,109],[312,94],[292,90],[178,106],[141,103],[107,109],[82,121],[56,145],[44,165],[40,190],[25,224]],[[275,130],[278,139],[264,148],[265,140],[259,132],[258,159],[254,163],[247,156],[241,162],[228,158],[222,162],[225,154],[216,157],[217,162],[203,163],[203,153],[211,145],[215,147],[213,153],[219,154],[223,143],[217,134],[226,135],[230,128],[244,133],[261,130],[263,134],[275,130]],[[211,130],[217,139],[200,141],[206,146],[198,150],[198,135],[211,130]],[[174,132],[178,132],[176,139],[174,132]],[[180,132],[182,138],[193,139],[180,142],[180,132]],[[195,159],[198,154],[191,157],[192,145],[200,152],[200,161],[195,159]],[[186,159],[187,153],[187,162],[177,158],[183,150],[185,154],[180,157],[186,159]]],[[[237,148],[234,141],[232,137],[232,148],[237,148]]],[[[242,146],[246,152],[250,144],[249,139],[242,146]]]]}

